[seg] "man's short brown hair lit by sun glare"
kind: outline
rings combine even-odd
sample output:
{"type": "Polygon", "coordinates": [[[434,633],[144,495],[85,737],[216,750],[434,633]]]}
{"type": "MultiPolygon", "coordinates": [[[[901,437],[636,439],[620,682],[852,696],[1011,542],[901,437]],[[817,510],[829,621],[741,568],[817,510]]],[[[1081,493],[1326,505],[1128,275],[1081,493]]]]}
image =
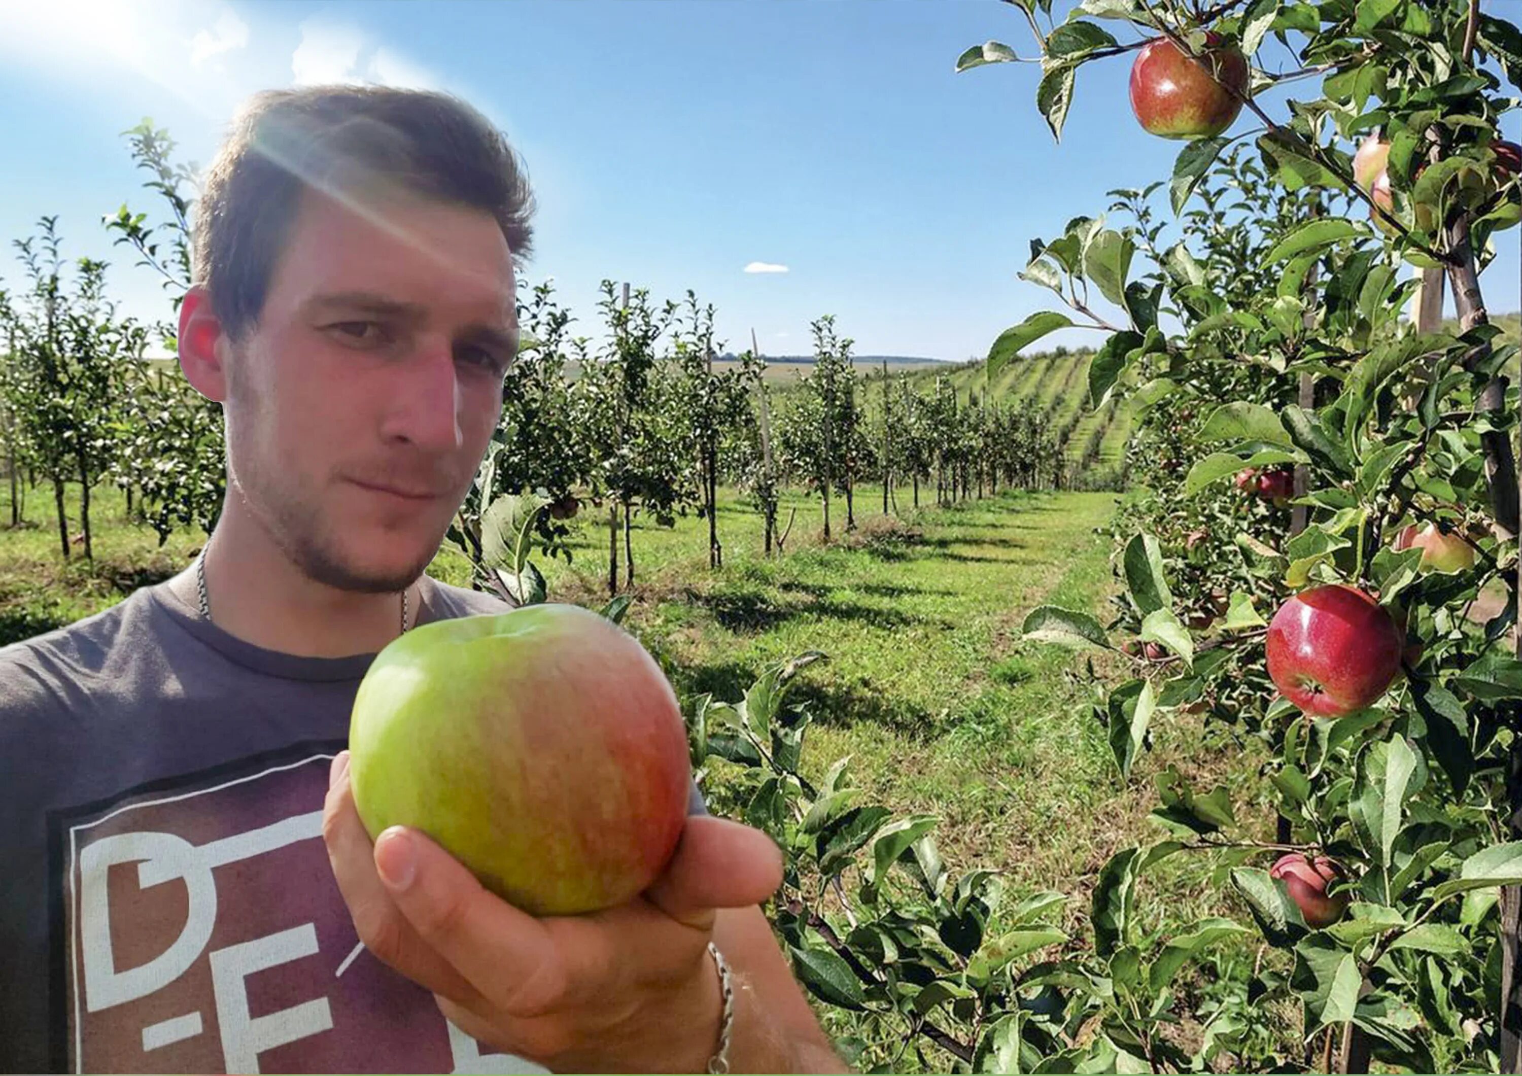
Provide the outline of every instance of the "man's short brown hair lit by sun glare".
{"type": "Polygon", "coordinates": [[[446,93],[323,85],[254,94],[207,169],[193,224],[195,283],[240,339],[269,292],[309,187],[391,186],[496,218],[514,262],[533,250],[534,198],[507,137],[446,93]]]}

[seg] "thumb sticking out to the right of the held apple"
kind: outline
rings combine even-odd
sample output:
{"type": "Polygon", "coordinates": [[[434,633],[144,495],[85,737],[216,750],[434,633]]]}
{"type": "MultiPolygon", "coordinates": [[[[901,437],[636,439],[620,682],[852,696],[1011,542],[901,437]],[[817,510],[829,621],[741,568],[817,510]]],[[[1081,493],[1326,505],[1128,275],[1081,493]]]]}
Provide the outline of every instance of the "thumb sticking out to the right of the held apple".
{"type": "Polygon", "coordinates": [[[645,898],[677,922],[708,930],[715,909],[763,904],[782,884],[782,851],[759,829],[696,814],[645,898]]]}

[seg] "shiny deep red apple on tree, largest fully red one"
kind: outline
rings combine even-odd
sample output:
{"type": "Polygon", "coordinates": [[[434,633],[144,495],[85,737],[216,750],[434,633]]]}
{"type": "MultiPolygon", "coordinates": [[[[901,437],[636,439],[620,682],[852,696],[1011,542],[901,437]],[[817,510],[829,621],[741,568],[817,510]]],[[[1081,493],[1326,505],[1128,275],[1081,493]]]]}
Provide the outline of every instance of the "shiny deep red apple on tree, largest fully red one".
{"type": "Polygon", "coordinates": [[[1310,717],[1371,706],[1400,671],[1394,618],[1362,591],[1335,583],[1301,591],[1268,626],[1268,676],[1310,717]]]}

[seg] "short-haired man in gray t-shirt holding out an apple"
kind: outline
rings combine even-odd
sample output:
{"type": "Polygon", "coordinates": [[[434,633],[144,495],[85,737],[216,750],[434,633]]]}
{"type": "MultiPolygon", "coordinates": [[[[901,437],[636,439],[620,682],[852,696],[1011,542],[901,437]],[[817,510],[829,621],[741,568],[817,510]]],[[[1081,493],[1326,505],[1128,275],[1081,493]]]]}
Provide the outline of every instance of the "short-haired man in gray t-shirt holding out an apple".
{"type": "Polygon", "coordinates": [[[355,813],[373,656],[504,609],[425,569],[499,420],[530,216],[452,97],[265,93],[234,123],[178,338],[224,405],[216,531],[0,650],[0,1067],[843,1071],[758,909],[778,849],[696,788],[667,874],[569,919],[355,813]]]}

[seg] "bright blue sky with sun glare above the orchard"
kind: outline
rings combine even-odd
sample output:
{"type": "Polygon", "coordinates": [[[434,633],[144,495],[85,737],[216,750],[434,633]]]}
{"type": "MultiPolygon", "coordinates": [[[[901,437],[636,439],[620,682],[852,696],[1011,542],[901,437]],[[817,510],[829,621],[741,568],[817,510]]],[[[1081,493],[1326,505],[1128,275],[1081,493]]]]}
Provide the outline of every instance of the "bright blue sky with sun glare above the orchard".
{"type": "MultiPolygon", "coordinates": [[[[167,317],[100,225],[123,201],[160,212],[122,131],[151,116],[204,164],[248,93],[380,81],[458,93],[507,131],[540,207],[527,277],[554,277],[583,333],[601,335],[607,277],[694,289],[732,350],[755,329],[766,353],[808,352],[834,314],[858,355],[982,356],[1055,298],[1015,275],[1029,240],[1180,149],[1137,126],[1125,58],[1081,72],[1053,143],[1038,68],[954,73],[991,38],[1032,50],[997,0],[0,3],[0,286],[21,280],[9,240],[58,215],[67,256],[113,263],[123,310],[167,317]]],[[[1485,274],[1493,310],[1517,307],[1516,236],[1485,274]]]]}

